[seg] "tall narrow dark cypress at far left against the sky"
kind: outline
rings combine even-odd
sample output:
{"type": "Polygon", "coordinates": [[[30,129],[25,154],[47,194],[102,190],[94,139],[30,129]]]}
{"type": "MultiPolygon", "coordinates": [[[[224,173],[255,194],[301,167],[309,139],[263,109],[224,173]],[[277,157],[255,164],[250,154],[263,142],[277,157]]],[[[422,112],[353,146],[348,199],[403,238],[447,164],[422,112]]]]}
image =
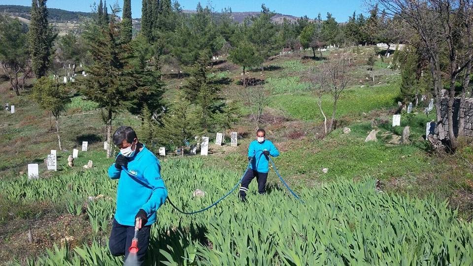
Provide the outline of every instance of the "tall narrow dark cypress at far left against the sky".
{"type": "Polygon", "coordinates": [[[57,33],[48,23],[47,0],[33,0],[31,5],[31,24],[29,47],[33,71],[37,78],[46,75],[50,64],[51,50],[57,33]]]}

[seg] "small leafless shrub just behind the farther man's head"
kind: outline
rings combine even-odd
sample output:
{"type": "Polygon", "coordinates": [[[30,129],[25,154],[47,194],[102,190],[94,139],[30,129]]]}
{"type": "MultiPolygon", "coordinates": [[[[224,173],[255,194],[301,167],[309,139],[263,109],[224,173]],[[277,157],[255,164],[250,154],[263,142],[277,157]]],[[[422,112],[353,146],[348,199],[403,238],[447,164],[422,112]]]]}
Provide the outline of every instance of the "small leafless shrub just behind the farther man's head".
{"type": "Polygon", "coordinates": [[[260,128],[263,111],[269,104],[268,93],[262,85],[248,86],[240,91],[241,98],[245,100],[251,112],[251,117],[256,128],[260,128]]]}

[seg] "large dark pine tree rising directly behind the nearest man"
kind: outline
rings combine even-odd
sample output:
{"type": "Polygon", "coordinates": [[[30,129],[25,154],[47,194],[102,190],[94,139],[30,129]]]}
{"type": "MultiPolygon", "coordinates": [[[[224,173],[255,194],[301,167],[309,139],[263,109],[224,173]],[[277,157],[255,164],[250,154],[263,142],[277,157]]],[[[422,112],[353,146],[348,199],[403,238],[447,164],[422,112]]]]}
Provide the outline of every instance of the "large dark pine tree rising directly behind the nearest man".
{"type": "MultiPolygon", "coordinates": [[[[154,81],[149,81],[147,72],[137,67],[142,60],[137,59],[132,44],[121,41],[119,25],[115,23],[117,9],[118,6],[114,6],[108,27],[91,26],[84,33],[93,64],[89,66],[90,77],[84,79],[81,90],[83,95],[103,108],[108,143],[111,143],[114,114],[123,109],[132,110],[136,102],[147,102],[146,94],[154,92],[147,83],[154,81]]],[[[110,153],[108,150],[108,157],[110,153]]]]}

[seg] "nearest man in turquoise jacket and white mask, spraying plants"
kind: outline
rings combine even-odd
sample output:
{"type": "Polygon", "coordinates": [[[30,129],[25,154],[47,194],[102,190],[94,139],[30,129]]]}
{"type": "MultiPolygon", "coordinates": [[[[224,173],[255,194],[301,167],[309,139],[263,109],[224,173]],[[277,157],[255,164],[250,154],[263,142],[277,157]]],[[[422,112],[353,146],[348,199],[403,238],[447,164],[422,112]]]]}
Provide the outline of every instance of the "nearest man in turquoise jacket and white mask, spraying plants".
{"type": "Polygon", "coordinates": [[[115,163],[108,168],[108,176],[118,180],[117,209],[108,241],[113,256],[128,257],[135,234],[135,220],[139,218],[137,234],[139,265],[143,264],[148,249],[151,225],[156,222],[156,211],[168,197],[161,179],[161,166],[156,156],[138,142],[131,127],[121,126],[113,133],[113,143],[120,148],[115,163]],[[130,173],[138,176],[131,176],[130,173]]]}

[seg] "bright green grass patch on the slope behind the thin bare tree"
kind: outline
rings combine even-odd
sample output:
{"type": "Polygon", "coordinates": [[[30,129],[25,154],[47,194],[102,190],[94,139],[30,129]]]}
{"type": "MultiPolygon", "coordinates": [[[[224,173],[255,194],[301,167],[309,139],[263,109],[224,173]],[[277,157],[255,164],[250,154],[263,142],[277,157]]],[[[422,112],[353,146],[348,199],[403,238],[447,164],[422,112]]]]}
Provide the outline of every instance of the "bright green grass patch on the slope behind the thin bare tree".
{"type": "MultiPolygon", "coordinates": [[[[393,107],[399,93],[399,87],[394,84],[347,89],[338,100],[336,117],[356,116],[374,109],[393,107]]],[[[322,121],[323,116],[316,100],[310,93],[276,95],[271,97],[270,107],[285,110],[297,119],[322,121]]],[[[331,96],[323,97],[322,108],[327,116],[331,116],[331,96]]]]}

